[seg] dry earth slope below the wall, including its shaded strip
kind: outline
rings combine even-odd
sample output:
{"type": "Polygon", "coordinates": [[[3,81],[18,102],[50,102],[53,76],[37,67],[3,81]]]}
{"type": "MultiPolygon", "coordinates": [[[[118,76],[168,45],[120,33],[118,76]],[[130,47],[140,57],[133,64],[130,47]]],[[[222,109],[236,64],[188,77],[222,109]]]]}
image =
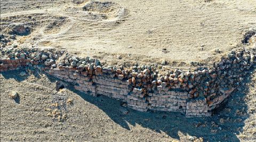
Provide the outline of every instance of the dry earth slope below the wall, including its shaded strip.
{"type": "Polygon", "coordinates": [[[22,70],[1,74],[1,141],[254,141],[256,72],[209,118],[174,112],[138,112],[56,78],[22,70]],[[12,91],[18,99],[10,99],[12,91]]]}

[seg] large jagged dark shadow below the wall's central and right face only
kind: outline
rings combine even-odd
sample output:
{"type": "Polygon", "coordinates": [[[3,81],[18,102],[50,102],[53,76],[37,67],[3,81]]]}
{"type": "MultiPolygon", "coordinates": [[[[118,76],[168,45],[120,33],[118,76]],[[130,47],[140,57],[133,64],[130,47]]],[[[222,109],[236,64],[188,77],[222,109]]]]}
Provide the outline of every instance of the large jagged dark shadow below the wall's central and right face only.
{"type": "MultiPolygon", "coordinates": [[[[127,130],[131,129],[129,125],[140,125],[156,132],[165,132],[170,137],[176,139],[180,139],[179,132],[181,132],[183,135],[204,137],[204,140],[209,141],[239,141],[235,134],[239,133],[238,128],[243,128],[244,120],[247,118],[247,116],[235,116],[237,108],[234,109],[232,108],[233,106],[228,106],[232,109],[229,114],[222,113],[220,109],[211,118],[186,118],[184,114],[179,112],[139,112],[132,109],[127,109],[130,112],[123,114],[121,102],[109,99],[106,96],[95,98],[73,89],[71,91],[80,95],[85,101],[98,106],[115,123],[127,130]],[[237,119],[242,119],[242,121],[239,123],[220,123],[220,118],[227,119],[228,117],[234,119],[234,121],[237,119]],[[214,126],[214,124],[218,126],[214,126]],[[214,132],[214,130],[217,131],[214,132]]],[[[244,111],[247,111],[245,103],[241,102],[241,100],[239,101],[244,104],[244,111]]],[[[227,104],[223,104],[222,107],[225,108],[226,106],[227,104]]]]}

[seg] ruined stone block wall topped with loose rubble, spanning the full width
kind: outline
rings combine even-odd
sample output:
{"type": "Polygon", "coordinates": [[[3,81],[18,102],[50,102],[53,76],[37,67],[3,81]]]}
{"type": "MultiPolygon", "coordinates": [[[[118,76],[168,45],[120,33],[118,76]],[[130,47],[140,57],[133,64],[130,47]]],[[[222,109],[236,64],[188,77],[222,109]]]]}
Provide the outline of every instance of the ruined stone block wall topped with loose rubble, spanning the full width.
{"type": "Polygon", "coordinates": [[[6,55],[7,59],[1,59],[1,72],[35,67],[92,96],[106,95],[139,111],[181,112],[187,117],[211,116],[211,111],[242,85],[247,69],[256,63],[254,50],[233,51],[210,69],[175,69],[161,76],[151,66],[102,66],[97,59],[63,51],[21,49],[6,55]]]}

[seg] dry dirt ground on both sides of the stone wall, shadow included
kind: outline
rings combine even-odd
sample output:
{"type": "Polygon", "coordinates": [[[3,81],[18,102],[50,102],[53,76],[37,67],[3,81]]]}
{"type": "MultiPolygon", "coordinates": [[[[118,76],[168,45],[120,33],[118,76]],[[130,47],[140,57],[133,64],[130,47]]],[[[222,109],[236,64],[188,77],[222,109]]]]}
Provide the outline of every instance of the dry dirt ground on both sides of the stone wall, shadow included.
{"type": "MultiPolygon", "coordinates": [[[[13,45],[66,49],[109,65],[208,65],[256,28],[255,0],[1,0],[0,10],[1,33],[29,29],[13,45]]],[[[210,118],[138,112],[71,86],[56,91],[56,78],[22,71],[1,73],[1,141],[256,141],[255,68],[210,118]]]]}

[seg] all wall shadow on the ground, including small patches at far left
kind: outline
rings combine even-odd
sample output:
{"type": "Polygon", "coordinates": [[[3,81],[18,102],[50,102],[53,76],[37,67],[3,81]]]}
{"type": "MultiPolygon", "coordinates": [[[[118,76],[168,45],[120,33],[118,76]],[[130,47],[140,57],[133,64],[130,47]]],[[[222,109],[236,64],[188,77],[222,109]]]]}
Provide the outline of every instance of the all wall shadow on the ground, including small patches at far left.
{"type": "MultiPolygon", "coordinates": [[[[2,73],[2,75],[7,79],[17,79],[17,81],[26,79],[26,77],[18,77],[19,72],[15,72],[6,72],[2,73]]],[[[34,73],[36,75],[39,74],[39,72],[34,73]]],[[[51,82],[58,80],[55,77],[46,76],[51,82]]],[[[245,78],[247,78],[247,82],[250,82],[251,74],[245,78]]],[[[180,139],[180,134],[188,134],[190,136],[203,137],[204,141],[239,141],[236,134],[243,131],[244,121],[249,117],[249,114],[246,113],[247,105],[244,102],[247,86],[244,86],[245,93],[239,93],[238,91],[232,93],[218,109],[214,110],[213,116],[208,118],[186,118],[184,114],[179,112],[139,112],[129,108],[126,108],[129,113],[124,114],[121,111],[123,106],[121,106],[120,101],[103,95],[93,97],[81,93],[75,90],[73,85],[70,85],[67,89],[78,94],[85,101],[98,106],[115,123],[127,130],[131,130],[131,126],[140,125],[159,133],[165,132],[165,134],[175,139],[180,139]],[[236,110],[243,110],[245,113],[237,115],[236,110]],[[221,123],[221,118],[229,121],[221,123]]],[[[148,135],[150,136],[150,134],[148,135]]]]}

